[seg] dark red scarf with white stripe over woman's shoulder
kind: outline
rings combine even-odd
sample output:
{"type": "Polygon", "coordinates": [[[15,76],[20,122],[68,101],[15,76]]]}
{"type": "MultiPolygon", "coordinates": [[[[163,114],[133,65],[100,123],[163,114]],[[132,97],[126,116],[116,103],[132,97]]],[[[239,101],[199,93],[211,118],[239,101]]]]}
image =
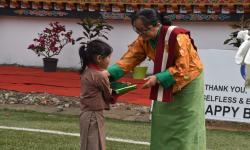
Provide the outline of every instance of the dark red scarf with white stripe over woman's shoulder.
{"type": "MultiPolygon", "coordinates": [[[[174,51],[178,34],[188,34],[190,37],[189,31],[176,26],[163,26],[161,28],[154,60],[154,74],[163,72],[169,67],[174,66],[174,51]]],[[[190,39],[196,49],[193,39],[191,37],[190,39]]],[[[157,84],[151,88],[150,99],[162,102],[171,102],[173,101],[172,91],[173,86],[164,88],[163,86],[157,84]]]]}

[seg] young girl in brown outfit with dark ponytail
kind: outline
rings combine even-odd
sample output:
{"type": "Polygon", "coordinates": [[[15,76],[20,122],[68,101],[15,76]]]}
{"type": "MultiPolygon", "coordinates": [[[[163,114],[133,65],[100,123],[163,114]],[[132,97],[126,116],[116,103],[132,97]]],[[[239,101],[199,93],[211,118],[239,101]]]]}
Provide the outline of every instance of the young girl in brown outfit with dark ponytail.
{"type": "Polygon", "coordinates": [[[103,110],[114,102],[107,69],[112,48],[101,40],[93,40],[79,49],[81,59],[80,137],[81,150],[105,150],[103,110]]]}

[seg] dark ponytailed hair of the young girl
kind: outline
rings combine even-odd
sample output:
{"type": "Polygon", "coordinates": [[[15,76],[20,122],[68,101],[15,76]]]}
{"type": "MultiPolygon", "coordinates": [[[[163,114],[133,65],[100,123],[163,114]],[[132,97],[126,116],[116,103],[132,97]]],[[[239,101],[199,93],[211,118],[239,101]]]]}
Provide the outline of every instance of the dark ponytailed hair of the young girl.
{"type": "Polygon", "coordinates": [[[102,57],[107,57],[112,53],[113,49],[107,43],[97,39],[92,40],[87,43],[87,45],[82,45],[79,48],[79,56],[81,61],[80,74],[83,73],[86,66],[93,63],[96,64],[96,56],[101,55],[102,57]]]}

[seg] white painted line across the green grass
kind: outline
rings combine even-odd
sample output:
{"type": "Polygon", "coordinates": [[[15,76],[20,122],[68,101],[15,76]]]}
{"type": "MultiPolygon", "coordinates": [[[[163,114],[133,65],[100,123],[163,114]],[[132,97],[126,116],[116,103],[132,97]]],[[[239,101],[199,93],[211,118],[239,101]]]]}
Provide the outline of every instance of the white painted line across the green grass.
{"type": "MultiPolygon", "coordinates": [[[[59,135],[69,135],[69,136],[80,136],[79,133],[67,133],[61,131],[54,131],[54,130],[41,130],[41,129],[31,129],[31,128],[17,128],[17,127],[6,127],[0,126],[0,129],[8,129],[8,130],[18,130],[18,131],[30,131],[30,132],[40,132],[40,133],[50,133],[50,134],[59,134],[59,135]]],[[[122,143],[130,143],[130,144],[139,144],[139,145],[150,145],[149,142],[142,142],[142,141],[134,141],[129,139],[120,139],[120,138],[111,138],[106,137],[108,141],[115,141],[115,142],[122,142],[122,143]]]]}

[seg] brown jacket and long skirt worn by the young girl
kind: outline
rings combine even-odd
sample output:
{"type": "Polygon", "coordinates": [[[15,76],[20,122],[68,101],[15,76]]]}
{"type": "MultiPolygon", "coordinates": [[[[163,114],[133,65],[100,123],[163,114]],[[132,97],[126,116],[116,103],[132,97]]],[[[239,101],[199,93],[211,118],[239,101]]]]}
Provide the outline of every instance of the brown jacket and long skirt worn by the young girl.
{"type": "Polygon", "coordinates": [[[105,150],[103,110],[109,109],[110,83],[97,67],[88,67],[81,75],[80,138],[81,150],[105,150]]]}

